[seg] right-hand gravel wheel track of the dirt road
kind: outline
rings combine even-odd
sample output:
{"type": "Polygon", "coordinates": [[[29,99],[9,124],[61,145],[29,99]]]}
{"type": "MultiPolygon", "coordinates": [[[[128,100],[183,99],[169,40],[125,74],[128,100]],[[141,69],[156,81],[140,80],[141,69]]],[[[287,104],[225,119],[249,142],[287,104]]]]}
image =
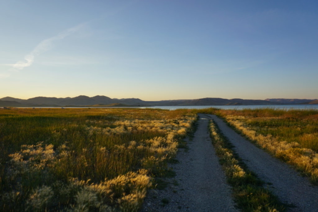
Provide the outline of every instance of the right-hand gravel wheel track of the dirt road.
{"type": "Polygon", "coordinates": [[[318,212],[318,187],[312,186],[308,178],[300,176],[300,173],[288,164],[244,139],[217,116],[205,115],[205,117],[217,123],[247,167],[261,180],[269,183],[268,188],[281,202],[295,206],[288,211],[318,212]]]}

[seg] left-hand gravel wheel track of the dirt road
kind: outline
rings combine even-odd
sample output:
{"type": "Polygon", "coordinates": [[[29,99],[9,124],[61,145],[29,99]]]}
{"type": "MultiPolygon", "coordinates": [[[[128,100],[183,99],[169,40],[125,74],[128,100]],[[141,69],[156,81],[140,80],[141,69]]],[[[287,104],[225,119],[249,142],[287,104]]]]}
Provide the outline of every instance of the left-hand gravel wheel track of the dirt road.
{"type": "Polygon", "coordinates": [[[237,211],[209,136],[209,120],[203,116],[199,115],[193,141],[187,140],[189,150],[179,149],[179,163],[170,165],[176,176],[164,179],[169,183],[165,190],[150,190],[142,212],[237,211]]]}

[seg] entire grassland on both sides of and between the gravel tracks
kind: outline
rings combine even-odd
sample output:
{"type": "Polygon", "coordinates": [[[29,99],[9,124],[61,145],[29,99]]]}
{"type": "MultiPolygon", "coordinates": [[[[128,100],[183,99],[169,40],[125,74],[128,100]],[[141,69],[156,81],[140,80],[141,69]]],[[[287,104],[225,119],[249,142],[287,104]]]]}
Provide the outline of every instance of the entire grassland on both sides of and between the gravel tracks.
{"type": "MultiPolygon", "coordinates": [[[[0,211],[138,211],[197,113],[223,117],[318,184],[316,110],[1,109],[0,211]]],[[[282,210],[210,127],[241,209],[282,210]]]]}

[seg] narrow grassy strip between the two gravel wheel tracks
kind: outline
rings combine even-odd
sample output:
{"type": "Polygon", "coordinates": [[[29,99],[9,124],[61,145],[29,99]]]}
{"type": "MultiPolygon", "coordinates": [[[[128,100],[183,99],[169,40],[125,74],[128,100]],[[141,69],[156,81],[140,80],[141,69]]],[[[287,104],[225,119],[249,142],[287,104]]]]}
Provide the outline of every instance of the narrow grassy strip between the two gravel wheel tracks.
{"type": "Polygon", "coordinates": [[[285,207],[277,197],[263,188],[263,182],[239,159],[231,143],[222,135],[214,122],[210,122],[209,130],[239,209],[243,212],[285,211],[285,207]]]}

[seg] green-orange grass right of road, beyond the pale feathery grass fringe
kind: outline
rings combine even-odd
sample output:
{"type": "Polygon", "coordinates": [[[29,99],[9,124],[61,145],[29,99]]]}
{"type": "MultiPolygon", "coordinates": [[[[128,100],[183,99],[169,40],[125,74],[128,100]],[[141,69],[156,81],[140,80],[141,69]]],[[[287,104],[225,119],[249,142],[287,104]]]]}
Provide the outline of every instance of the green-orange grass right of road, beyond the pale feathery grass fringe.
{"type": "Polygon", "coordinates": [[[318,151],[318,110],[245,109],[218,113],[223,117],[243,116],[246,127],[258,134],[318,151]]]}

